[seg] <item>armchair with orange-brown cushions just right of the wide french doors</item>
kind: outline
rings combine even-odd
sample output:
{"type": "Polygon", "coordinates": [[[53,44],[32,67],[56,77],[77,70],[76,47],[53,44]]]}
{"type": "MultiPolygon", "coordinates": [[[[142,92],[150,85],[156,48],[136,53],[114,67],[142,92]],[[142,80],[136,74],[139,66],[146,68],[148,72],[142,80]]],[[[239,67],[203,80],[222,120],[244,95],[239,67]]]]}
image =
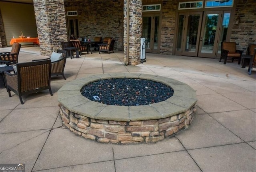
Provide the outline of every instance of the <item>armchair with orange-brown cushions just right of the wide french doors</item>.
{"type": "Polygon", "coordinates": [[[236,42],[221,42],[220,61],[223,58],[224,64],[226,64],[228,58],[231,58],[232,62],[234,62],[234,59],[238,59],[238,64],[240,64],[242,53],[243,51],[236,50],[236,42]]]}

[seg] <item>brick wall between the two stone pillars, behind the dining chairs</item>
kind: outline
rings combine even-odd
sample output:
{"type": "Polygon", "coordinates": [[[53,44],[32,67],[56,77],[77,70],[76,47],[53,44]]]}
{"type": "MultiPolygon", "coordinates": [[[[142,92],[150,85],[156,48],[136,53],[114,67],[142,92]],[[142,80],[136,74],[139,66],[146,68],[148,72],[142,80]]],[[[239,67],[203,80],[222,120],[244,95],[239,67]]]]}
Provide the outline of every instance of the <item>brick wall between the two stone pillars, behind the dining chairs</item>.
{"type": "Polygon", "coordinates": [[[67,11],[78,11],[79,37],[114,38],[114,50],[123,50],[123,0],[65,1],[67,11]]]}

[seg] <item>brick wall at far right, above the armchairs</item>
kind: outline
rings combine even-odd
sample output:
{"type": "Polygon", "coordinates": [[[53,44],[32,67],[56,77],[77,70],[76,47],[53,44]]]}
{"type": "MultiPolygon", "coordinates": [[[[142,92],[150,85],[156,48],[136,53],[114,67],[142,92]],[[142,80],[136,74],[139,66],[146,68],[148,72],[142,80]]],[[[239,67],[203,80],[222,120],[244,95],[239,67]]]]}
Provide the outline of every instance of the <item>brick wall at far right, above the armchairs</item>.
{"type": "Polygon", "coordinates": [[[237,49],[246,50],[248,44],[256,44],[256,2],[255,0],[238,0],[231,31],[231,42],[236,42],[237,49]],[[237,16],[240,22],[236,24],[237,16]]]}

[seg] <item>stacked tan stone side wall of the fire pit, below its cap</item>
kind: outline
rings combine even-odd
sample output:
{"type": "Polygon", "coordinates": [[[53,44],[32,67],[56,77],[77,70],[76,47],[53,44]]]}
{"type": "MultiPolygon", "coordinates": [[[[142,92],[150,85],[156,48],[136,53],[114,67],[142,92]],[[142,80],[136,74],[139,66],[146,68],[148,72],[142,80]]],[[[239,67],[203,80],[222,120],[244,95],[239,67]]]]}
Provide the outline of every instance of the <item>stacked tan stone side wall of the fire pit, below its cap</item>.
{"type": "Polygon", "coordinates": [[[63,124],[75,134],[102,143],[157,142],[187,128],[194,117],[195,108],[156,120],[113,121],[89,118],[60,105],[63,124]]]}

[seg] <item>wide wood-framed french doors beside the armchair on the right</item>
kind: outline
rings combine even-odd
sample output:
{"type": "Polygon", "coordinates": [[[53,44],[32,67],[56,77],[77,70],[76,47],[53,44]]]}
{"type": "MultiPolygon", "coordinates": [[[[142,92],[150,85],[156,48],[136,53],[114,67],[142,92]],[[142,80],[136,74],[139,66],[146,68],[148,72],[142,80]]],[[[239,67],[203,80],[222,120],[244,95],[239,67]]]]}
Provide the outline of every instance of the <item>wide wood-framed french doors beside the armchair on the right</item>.
{"type": "Polygon", "coordinates": [[[216,58],[226,39],[230,12],[185,12],[178,15],[176,55],[216,58]]]}

